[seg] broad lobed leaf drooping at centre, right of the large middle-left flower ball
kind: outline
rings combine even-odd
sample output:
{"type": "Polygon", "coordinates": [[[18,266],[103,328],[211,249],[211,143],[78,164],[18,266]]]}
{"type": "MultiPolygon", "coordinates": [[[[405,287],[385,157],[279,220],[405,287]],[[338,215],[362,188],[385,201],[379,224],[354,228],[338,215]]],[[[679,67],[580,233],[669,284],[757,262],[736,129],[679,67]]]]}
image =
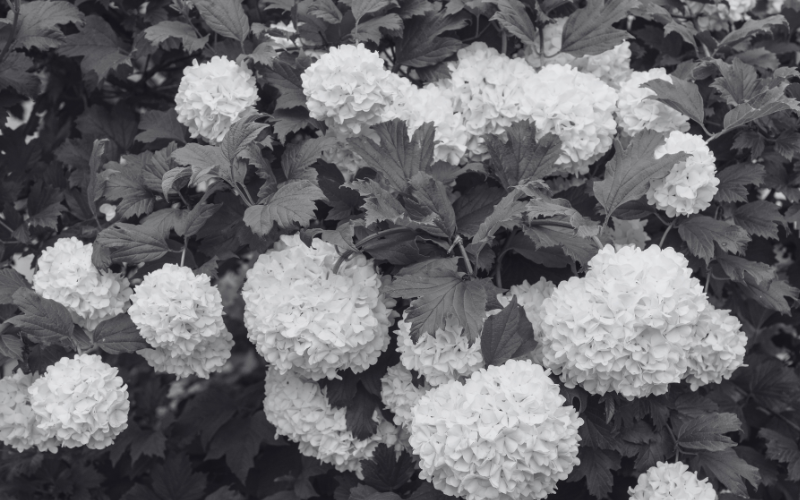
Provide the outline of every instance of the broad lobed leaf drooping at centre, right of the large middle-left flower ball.
{"type": "Polygon", "coordinates": [[[392,297],[414,299],[406,321],[411,322],[411,337],[433,334],[451,321],[464,328],[464,334],[475,341],[483,326],[486,290],[480,280],[464,280],[455,260],[440,259],[418,274],[402,275],[386,288],[392,297]]]}

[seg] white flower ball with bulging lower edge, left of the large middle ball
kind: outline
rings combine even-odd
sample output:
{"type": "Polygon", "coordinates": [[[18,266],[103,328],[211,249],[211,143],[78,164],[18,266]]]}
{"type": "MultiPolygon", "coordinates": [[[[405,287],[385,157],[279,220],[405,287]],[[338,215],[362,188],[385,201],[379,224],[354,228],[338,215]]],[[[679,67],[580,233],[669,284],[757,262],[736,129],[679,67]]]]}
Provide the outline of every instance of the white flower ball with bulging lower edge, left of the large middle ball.
{"type": "Polygon", "coordinates": [[[222,297],[205,274],[164,264],[131,297],[131,320],[152,349],[138,353],[157,372],[208,378],[231,355],[233,336],[222,321],[222,297]]]}

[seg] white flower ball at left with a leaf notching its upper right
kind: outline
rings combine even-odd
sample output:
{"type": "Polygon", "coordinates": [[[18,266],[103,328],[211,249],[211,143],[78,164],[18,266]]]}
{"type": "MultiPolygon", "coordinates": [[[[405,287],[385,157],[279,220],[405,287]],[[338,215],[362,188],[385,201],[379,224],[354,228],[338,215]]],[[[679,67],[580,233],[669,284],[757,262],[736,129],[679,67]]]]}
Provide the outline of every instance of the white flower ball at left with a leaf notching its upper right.
{"type": "Polygon", "coordinates": [[[61,238],[39,257],[33,289],[69,309],[72,320],[94,330],[101,321],[125,312],[131,288],[128,280],[92,264],[92,244],[61,238]]]}

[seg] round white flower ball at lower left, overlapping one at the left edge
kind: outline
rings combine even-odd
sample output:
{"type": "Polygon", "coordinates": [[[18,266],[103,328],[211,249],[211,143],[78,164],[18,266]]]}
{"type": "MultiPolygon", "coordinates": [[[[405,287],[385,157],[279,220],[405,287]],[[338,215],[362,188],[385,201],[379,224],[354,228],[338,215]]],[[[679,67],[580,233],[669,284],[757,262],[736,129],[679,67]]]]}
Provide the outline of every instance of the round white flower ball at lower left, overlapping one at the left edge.
{"type": "Polygon", "coordinates": [[[61,358],[28,388],[39,429],[61,446],[100,450],[128,427],[127,386],[96,354],[61,358]]]}

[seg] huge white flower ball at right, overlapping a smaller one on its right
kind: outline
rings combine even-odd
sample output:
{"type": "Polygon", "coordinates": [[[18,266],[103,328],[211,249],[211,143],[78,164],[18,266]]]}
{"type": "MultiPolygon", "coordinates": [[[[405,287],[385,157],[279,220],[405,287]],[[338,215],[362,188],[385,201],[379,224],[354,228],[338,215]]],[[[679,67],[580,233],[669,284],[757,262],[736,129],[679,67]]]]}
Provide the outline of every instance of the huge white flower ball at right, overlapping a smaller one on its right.
{"type": "Polygon", "coordinates": [[[687,351],[707,299],[672,248],[606,245],[583,278],[544,301],[544,364],[567,387],[627,399],[664,394],[687,370],[687,351]]]}

